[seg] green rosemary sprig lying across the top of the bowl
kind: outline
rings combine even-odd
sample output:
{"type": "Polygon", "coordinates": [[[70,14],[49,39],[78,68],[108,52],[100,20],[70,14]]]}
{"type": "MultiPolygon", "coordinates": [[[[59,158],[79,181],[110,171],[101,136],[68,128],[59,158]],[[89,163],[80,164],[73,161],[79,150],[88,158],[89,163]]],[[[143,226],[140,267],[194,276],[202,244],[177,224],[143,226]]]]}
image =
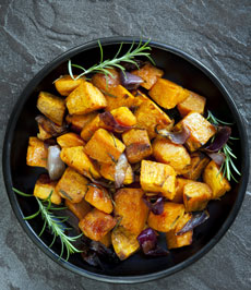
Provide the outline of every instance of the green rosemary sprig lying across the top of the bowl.
{"type": "Polygon", "coordinates": [[[132,63],[139,69],[139,65],[136,61],[134,60],[135,57],[146,57],[152,63],[154,63],[154,60],[151,58],[151,53],[148,52],[148,50],[152,50],[152,48],[148,46],[150,41],[151,39],[148,39],[145,44],[142,44],[142,40],[140,40],[139,45],[135,48],[134,48],[134,41],[133,41],[129,50],[123,56],[119,57],[120,51],[123,46],[123,43],[121,43],[116,56],[111,60],[110,59],[103,60],[104,58],[103,47],[101,47],[100,41],[98,40],[98,46],[100,49],[100,62],[98,64],[94,64],[89,69],[85,69],[79,64],[71,63],[71,60],[69,60],[68,61],[69,74],[71,75],[73,80],[77,80],[82,77],[83,75],[86,75],[89,73],[103,73],[106,76],[110,75],[111,77],[113,77],[112,73],[108,71],[108,69],[117,68],[117,69],[120,69],[122,72],[124,72],[125,69],[120,64],[121,62],[132,63]],[[80,69],[83,71],[83,73],[74,77],[72,68],[80,69]]]}

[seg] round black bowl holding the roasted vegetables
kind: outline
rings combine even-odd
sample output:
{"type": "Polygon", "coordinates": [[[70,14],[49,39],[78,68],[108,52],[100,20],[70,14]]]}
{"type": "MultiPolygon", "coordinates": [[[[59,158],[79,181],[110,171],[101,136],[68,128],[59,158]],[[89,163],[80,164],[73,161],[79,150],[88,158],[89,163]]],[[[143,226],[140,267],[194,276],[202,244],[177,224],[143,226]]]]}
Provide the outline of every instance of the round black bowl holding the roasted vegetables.
{"type": "MultiPolygon", "coordinates": [[[[140,39],[132,37],[101,39],[104,57],[111,58],[115,56],[121,41],[125,43],[123,50],[128,49],[133,40],[139,43],[140,39]]],[[[96,280],[119,283],[148,281],[171,275],[189,266],[207,253],[228,230],[240,209],[247,189],[249,177],[247,133],[241,116],[226,88],[208,69],[186,52],[154,41],[151,43],[151,47],[153,48],[152,57],[157,67],[164,69],[165,77],[205,96],[207,108],[219,119],[234,122],[232,135],[239,137],[234,147],[238,157],[236,165],[241,171],[239,182],[231,183],[231,191],[220,202],[210,203],[211,218],[194,231],[192,245],[174,250],[167,257],[146,258],[138,253],[118,265],[104,265],[101,269],[87,265],[79,254],[72,255],[69,262],[59,259],[60,243],[56,242],[49,249],[50,233],[46,232],[41,238],[37,235],[43,227],[41,219],[36,218],[29,221],[23,219],[24,216],[35,213],[36,202],[34,198],[16,196],[12,188],[27,193],[33,192],[37,176],[43,171],[39,168],[27,167],[25,164],[28,137],[37,133],[34,118],[38,113],[36,109],[38,92],[56,93],[52,82],[59,75],[68,73],[68,59],[72,59],[73,63],[83,64],[86,68],[97,63],[99,61],[97,41],[79,46],[61,55],[31,81],[13,109],[5,133],[4,181],[12,208],[23,229],[34,243],[55,262],[67,269],[96,280]]]]}

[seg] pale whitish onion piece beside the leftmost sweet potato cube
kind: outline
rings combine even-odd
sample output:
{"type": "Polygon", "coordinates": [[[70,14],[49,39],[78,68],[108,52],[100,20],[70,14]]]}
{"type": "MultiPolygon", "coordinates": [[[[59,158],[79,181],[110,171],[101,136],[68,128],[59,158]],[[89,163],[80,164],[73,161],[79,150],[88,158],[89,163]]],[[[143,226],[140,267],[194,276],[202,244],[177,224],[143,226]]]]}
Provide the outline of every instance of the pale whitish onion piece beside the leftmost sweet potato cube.
{"type": "Polygon", "coordinates": [[[60,152],[58,145],[49,146],[48,148],[47,169],[51,180],[61,178],[65,170],[64,162],[60,158],[60,152]]]}

